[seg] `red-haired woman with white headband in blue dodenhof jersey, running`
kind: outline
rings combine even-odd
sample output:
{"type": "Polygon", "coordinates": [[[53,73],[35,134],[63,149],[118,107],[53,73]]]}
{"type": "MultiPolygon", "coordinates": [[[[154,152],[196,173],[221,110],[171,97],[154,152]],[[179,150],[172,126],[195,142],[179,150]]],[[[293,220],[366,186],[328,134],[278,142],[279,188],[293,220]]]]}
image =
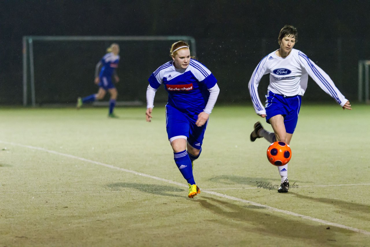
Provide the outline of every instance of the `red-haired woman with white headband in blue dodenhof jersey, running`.
{"type": "Polygon", "coordinates": [[[192,198],[201,192],[194,181],[192,164],[201,154],[208,117],[220,90],[211,71],[190,57],[187,43],[178,41],[172,44],[170,56],[172,60],[149,77],[145,115],[150,122],[155,92],[163,84],[168,92],[168,140],[174,151],[176,166],[188,182],[188,197],[192,198]]]}

